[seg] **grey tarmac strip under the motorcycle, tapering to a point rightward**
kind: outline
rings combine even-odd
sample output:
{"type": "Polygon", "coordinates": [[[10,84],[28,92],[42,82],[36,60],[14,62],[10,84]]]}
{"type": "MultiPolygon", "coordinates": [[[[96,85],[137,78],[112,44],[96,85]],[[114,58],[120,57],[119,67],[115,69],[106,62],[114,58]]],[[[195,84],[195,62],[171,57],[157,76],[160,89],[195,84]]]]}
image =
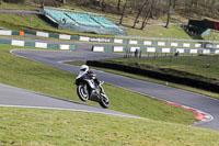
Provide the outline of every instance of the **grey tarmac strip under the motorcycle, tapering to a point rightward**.
{"type": "MultiPolygon", "coordinates": [[[[135,119],[143,119],[122,112],[116,112],[107,109],[92,106],[80,102],[59,99],[56,97],[45,96],[28,90],[10,87],[0,83],[0,106],[15,106],[15,108],[35,108],[35,109],[53,109],[80,111],[101,114],[111,114],[118,116],[127,116],[135,119]]],[[[145,119],[147,120],[147,119],[145,119]]]]}

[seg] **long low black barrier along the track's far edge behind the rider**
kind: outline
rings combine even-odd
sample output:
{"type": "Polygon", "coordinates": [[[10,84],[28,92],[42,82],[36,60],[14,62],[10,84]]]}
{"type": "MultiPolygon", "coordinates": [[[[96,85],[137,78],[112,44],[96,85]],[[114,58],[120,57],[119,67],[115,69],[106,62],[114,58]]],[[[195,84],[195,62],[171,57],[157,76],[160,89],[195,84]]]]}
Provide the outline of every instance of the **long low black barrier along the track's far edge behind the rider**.
{"type": "MultiPolygon", "coordinates": [[[[185,85],[185,86],[189,86],[189,87],[195,87],[195,88],[207,90],[207,91],[212,91],[212,92],[217,92],[217,93],[219,92],[219,90],[218,90],[219,85],[207,82],[207,81],[201,81],[198,79],[178,77],[178,76],[174,76],[171,74],[154,71],[154,70],[150,70],[150,69],[140,69],[140,68],[130,67],[130,66],[126,66],[126,65],[118,65],[118,64],[114,64],[114,63],[102,63],[102,61],[96,61],[96,60],[88,60],[87,65],[119,70],[119,71],[126,71],[126,72],[130,72],[130,74],[135,74],[135,75],[141,75],[141,76],[147,76],[147,77],[154,78],[154,79],[160,79],[160,80],[164,80],[164,81],[170,81],[170,82],[181,83],[181,85],[185,85]]],[[[206,80],[208,80],[208,79],[206,79],[206,80]]]]}

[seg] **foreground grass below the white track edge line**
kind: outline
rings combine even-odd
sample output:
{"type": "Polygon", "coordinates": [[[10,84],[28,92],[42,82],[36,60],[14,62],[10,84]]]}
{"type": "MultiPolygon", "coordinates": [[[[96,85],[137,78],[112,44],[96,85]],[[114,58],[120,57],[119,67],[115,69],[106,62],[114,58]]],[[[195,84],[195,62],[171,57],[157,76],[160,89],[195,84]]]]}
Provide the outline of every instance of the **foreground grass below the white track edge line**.
{"type": "Polygon", "coordinates": [[[3,146],[219,145],[218,132],[181,124],[55,110],[0,110],[3,146]]]}

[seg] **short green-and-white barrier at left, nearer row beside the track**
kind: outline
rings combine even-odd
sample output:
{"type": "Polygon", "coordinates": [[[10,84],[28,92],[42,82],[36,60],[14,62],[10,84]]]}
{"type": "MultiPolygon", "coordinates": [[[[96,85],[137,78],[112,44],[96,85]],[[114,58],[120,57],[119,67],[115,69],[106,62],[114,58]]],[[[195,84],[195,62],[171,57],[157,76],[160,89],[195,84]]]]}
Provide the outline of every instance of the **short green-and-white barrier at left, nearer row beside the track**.
{"type": "Polygon", "coordinates": [[[55,48],[55,49],[76,49],[77,47],[76,45],[49,44],[44,42],[20,41],[20,40],[8,40],[8,38],[0,38],[0,44],[8,44],[12,46],[38,47],[38,48],[55,48]]]}

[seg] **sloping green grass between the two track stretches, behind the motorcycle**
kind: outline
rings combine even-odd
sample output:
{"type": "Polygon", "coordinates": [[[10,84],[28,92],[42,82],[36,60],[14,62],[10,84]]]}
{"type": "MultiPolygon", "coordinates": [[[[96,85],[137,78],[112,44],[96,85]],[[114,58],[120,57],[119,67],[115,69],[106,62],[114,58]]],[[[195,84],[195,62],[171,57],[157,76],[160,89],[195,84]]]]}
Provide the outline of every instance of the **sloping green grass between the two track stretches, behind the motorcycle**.
{"type": "MultiPolygon", "coordinates": [[[[12,46],[0,45],[0,82],[73,101],[80,101],[76,86],[76,75],[13,56],[9,53],[12,46]],[[34,83],[33,83],[34,82],[34,83]]],[[[104,86],[111,98],[111,109],[149,117],[153,120],[192,124],[194,113],[130,92],[113,86],[104,86]]],[[[89,104],[97,105],[95,102],[89,104]]]]}

